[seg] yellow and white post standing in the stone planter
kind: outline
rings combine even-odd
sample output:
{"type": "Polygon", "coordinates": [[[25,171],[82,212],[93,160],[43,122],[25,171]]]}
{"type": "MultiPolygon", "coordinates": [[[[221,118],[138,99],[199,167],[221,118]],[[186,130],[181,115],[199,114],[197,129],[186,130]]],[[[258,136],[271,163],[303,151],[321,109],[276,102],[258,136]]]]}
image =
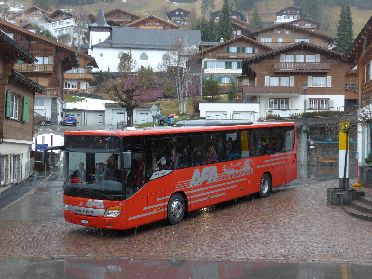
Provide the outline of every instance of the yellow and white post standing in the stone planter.
{"type": "Polygon", "coordinates": [[[349,122],[340,122],[340,133],[339,133],[339,188],[343,186],[344,180],[344,170],[345,170],[345,155],[347,155],[346,160],[346,183],[345,189],[349,189],[349,142],[347,141],[347,153],[346,153],[346,133],[342,132],[345,127],[349,125],[349,122]]]}

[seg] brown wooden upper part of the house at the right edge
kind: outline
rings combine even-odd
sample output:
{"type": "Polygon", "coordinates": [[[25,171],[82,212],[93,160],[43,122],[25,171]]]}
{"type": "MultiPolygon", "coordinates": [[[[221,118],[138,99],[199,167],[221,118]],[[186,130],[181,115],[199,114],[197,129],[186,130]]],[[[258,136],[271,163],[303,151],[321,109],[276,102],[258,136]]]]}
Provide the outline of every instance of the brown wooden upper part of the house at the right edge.
{"type": "MultiPolygon", "coordinates": [[[[345,60],[357,65],[356,91],[359,96],[358,107],[371,104],[372,99],[372,17],[356,36],[345,52],[345,60]]],[[[348,76],[346,75],[345,78],[348,76]]]]}

